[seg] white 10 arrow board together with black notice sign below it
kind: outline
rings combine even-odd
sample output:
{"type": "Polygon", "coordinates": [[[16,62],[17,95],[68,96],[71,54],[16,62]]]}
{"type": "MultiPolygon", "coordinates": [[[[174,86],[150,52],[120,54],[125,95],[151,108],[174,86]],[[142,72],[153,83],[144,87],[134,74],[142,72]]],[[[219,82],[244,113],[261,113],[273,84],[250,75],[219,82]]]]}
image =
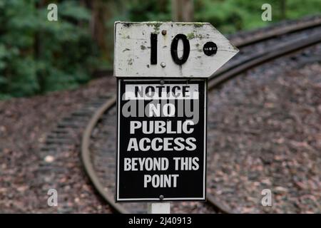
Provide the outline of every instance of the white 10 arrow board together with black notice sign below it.
{"type": "Polygon", "coordinates": [[[116,201],[206,199],[208,77],[237,52],[208,23],[115,23],[116,201]]]}

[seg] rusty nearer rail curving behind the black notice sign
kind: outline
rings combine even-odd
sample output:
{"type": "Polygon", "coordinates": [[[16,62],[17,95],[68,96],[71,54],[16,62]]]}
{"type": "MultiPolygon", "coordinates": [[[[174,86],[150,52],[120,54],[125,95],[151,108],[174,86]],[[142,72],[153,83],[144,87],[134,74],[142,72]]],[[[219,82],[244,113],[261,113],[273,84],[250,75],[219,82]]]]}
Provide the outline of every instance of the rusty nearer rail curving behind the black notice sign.
{"type": "MultiPolygon", "coordinates": [[[[317,22],[318,25],[321,24],[321,21],[317,22]]],[[[308,24],[309,26],[307,28],[310,28],[312,24],[308,24]]],[[[313,24],[313,26],[316,26],[316,24],[313,24]]],[[[299,27],[302,30],[302,26],[299,27]]],[[[294,30],[290,30],[293,32],[294,30]]],[[[287,31],[288,32],[288,31],[287,31]]],[[[279,34],[279,33],[278,33],[279,34]]],[[[268,38],[272,37],[270,34],[267,36],[268,38]]],[[[257,38],[258,40],[258,38],[257,38]]],[[[280,56],[285,56],[289,53],[293,53],[295,51],[298,51],[302,48],[307,48],[308,46],[315,45],[316,43],[321,42],[321,33],[317,33],[314,36],[310,36],[308,38],[299,38],[295,41],[291,41],[288,43],[281,43],[279,46],[275,46],[274,48],[270,48],[269,50],[265,50],[262,53],[257,53],[253,56],[249,56],[246,58],[245,61],[242,61],[241,63],[235,64],[234,66],[230,66],[230,68],[226,68],[224,71],[220,71],[218,73],[215,73],[213,76],[211,76],[208,89],[213,90],[217,86],[219,86],[221,83],[224,83],[225,81],[230,80],[231,78],[239,75],[240,73],[243,73],[244,71],[247,71],[250,68],[254,68],[255,66],[258,66],[262,63],[265,63],[267,61],[270,61],[272,59],[278,58],[280,56]]],[[[246,41],[245,45],[247,43],[253,43],[246,41]]],[[[241,45],[240,43],[238,46],[245,46],[241,45]]],[[[86,173],[88,174],[89,178],[91,179],[91,182],[93,182],[94,187],[96,187],[96,190],[98,193],[103,197],[103,199],[108,202],[108,204],[113,207],[117,212],[120,213],[130,213],[127,209],[122,207],[119,204],[116,204],[113,200],[113,197],[110,197],[106,191],[104,190],[103,185],[101,185],[101,182],[98,180],[98,176],[96,175],[95,170],[93,169],[93,165],[91,163],[91,157],[90,157],[90,138],[91,133],[93,131],[93,128],[95,128],[96,124],[98,123],[98,120],[101,118],[101,115],[103,113],[106,113],[110,108],[112,108],[114,105],[116,105],[116,98],[113,97],[110,100],[108,100],[106,103],[104,103],[101,108],[96,110],[96,112],[93,114],[93,117],[89,121],[88,125],[86,126],[86,130],[83,133],[83,140],[81,142],[81,157],[83,160],[83,165],[85,167],[86,173]]],[[[212,204],[215,209],[222,213],[235,213],[231,211],[228,208],[225,208],[222,204],[218,202],[218,200],[213,196],[208,194],[208,202],[212,204]]]]}

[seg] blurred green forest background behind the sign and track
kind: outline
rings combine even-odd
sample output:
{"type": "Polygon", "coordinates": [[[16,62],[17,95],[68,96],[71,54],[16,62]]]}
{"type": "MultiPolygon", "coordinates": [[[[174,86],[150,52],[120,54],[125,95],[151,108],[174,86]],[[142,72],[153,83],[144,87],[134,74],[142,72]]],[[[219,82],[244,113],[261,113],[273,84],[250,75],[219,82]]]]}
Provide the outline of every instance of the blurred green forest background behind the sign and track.
{"type": "Polygon", "coordinates": [[[0,99],[76,88],[113,66],[114,21],[206,21],[223,33],[320,14],[320,0],[0,0],[0,99]],[[58,21],[47,6],[58,5],[58,21]]]}

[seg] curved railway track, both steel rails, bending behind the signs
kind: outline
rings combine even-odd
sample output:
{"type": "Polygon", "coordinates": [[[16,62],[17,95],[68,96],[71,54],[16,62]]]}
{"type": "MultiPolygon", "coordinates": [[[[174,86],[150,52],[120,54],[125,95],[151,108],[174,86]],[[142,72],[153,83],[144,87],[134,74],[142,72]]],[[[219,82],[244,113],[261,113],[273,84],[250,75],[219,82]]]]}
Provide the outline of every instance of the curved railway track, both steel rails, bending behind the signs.
{"type": "MultiPolygon", "coordinates": [[[[243,41],[232,41],[232,43],[235,43],[236,46],[241,48],[241,53],[245,48],[249,48],[250,46],[253,46],[255,44],[260,45],[260,43],[265,43],[267,41],[271,42],[271,40],[273,39],[275,39],[275,45],[271,46],[269,43],[269,45],[266,48],[263,48],[262,51],[254,53],[251,51],[250,53],[244,51],[244,53],[246,53],[245,56],[240,56],[240,58],[231,61],[227,66],[221,68],[220,71],[217,71],[215,74],[213,74],[213,76],[210,77],[209,90],[218,88],[218,86],[220,86],[221,84],[225,83],[235,76],[240,75],[240,73],[243,73],[244,71],[248,71],[248,69],[250,68],[255,68],[257,66],[260,66],[260,64],[263,64],[272,59],[280,58],[282,56],[295,53],[302,48],[307,48],[309,46],[315,45],[316,43],[320,43],[320,26],[321,19],[317,18],[312,19],[312,21],[305,21],[302,24],[291,24],[287,27],[285,26],[283,28],[276,28],[267,33],[255,35],[252,38],[245,38],[243,41]],[[278,41],[279,37],[284,38],[287,36],[292,36],[293,34],[295,34],[295,38],[289,38],[289,41],[278,41]]],[[[111,207],[113,207],[116,212],[143,212],[144,209],[138,211],[135,205],[126,204],[126,206],[124,206],[124,204],[116,204],[111,192],[106,191],[106,186],[101,182],[101,179],[98,177],[96,169],[93,165],[90,146],[93,131],[95,130],[98,123],[100,123],[103,115],[106,115],[106,113],[108,113],[116,105],[116,97],[114,96],[103,99],[106,100],[106,102],[100,100],[99,102],[94,104],[94,106],[96,107],[96,111],[93,113],[93,115],[88,116],[90,117],[90,120],[88,121],[88,123],[86,123],[86,129],[83,131],[81,142],[81,159],[83,162],[83,166],[99,195],[101,195],[101,197],[106,200],[106,202],[111,205],[111,207]]],[[[88,113],[85,114],[88,115],[88,113]]],[[[82,116],[81,113],[78,113],[78,115],[82,116]]],[[[65,127],[68,128],[68,125],[71,125],[71,123],[66,123],[65,127]]],[[[207,203],[210,205],[210,207],[213,207],[215,209],[215,212],[235,213],[225,205],[221,204],[220,201],[215,198],[215,196],[208,194],[207,198],[207,203]]]]}

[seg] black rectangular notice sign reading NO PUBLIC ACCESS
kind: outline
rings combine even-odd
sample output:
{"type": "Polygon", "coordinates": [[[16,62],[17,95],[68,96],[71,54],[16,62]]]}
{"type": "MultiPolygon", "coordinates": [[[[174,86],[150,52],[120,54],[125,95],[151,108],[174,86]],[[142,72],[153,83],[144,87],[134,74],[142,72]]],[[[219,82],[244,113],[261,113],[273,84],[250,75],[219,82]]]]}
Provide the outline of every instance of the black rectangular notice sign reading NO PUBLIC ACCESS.
{"type": "Polygon", "coordinates": [[[207,79],[118,79],[116,201],[205,200],[207,79]]]}

